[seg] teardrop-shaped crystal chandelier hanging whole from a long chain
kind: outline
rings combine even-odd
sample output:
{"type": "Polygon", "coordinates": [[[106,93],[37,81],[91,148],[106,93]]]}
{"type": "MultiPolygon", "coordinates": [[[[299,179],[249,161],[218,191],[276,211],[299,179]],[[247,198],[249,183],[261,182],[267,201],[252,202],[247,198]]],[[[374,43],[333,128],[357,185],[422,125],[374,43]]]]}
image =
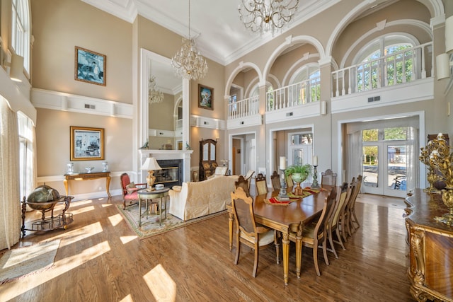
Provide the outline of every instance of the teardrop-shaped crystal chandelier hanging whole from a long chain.
{"type": "Polygon", "coordinates": [[[190,38],[190,0],[189,0],[189,37],[183,37],[183,47],[171,59],[171,66],[176,69],[176,74],[183,79],[201,79],[207,74],[206,59],[197,52],[195,40],[190,38]]]}

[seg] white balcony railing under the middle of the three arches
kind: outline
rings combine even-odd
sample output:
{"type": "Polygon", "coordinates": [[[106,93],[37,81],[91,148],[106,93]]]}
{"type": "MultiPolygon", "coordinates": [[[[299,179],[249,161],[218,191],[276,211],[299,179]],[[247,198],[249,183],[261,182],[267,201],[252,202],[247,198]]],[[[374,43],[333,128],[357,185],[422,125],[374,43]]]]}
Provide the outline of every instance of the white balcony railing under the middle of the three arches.
{"type": "Polygon", "coordinates": [[[266,111],[280,110],[319,100],[321,79],[319,76],[266,93],[266,111]]]}

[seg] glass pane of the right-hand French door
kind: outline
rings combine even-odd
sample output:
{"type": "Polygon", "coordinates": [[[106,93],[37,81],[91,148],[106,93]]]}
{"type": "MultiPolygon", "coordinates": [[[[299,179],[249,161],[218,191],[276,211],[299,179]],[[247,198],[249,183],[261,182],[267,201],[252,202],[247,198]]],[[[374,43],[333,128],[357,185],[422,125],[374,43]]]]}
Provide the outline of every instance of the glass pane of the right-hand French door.
{"type": "Polygon", "coordinates": [[[406,191],[406,146],[387,146],[387,186],[406,191]]]}

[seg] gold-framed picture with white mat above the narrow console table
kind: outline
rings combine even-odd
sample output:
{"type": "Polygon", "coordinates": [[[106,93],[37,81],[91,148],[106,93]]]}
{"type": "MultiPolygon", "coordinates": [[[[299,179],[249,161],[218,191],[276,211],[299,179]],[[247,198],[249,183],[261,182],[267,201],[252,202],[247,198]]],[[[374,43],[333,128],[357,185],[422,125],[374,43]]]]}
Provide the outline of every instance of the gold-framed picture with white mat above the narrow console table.
{"type": "Polygon", "coordinates": [[[71,126],[71,161],[104,159],[104,129],[71,126]]]}

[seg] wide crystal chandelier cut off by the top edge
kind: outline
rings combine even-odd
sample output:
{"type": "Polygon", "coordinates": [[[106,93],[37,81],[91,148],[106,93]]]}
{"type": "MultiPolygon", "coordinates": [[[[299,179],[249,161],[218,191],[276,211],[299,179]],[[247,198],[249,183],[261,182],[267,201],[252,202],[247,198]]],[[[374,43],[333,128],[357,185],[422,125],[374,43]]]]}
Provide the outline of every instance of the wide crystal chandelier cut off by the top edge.
{"type": "Polygon", "coordinates": [[[253,33],[272,32],[291,21],[299,0],[241,0],[239,18],[253,33]]]}

